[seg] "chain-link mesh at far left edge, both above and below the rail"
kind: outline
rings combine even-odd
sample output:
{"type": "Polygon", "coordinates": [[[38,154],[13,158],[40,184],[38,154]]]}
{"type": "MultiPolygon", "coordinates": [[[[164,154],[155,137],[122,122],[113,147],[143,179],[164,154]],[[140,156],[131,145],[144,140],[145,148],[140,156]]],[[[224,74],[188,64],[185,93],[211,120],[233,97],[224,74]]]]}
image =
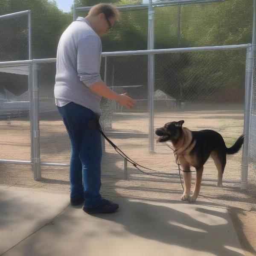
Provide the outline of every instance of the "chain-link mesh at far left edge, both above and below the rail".
{"type": "MultiPolygon", "coordinates": [[[[27,59],[28,12],[0,16],[0,61],[27,59]]],[[[29,108],[29,66],[0,67],[1,159],[30,161],[29,108]]]]}

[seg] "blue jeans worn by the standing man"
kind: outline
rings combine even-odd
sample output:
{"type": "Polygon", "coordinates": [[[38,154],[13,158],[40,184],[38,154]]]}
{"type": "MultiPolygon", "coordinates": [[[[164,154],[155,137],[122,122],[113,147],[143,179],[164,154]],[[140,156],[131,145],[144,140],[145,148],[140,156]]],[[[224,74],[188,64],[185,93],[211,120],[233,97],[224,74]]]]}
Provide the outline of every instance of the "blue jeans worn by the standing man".
{"type": "Polygon", "coordinates": [[[101,203],[102,143],[98,129],[88,128],[93,111],[70,102],[58,107],[71,141],[70,199],[84,197],[85,207],[101,203]]]}

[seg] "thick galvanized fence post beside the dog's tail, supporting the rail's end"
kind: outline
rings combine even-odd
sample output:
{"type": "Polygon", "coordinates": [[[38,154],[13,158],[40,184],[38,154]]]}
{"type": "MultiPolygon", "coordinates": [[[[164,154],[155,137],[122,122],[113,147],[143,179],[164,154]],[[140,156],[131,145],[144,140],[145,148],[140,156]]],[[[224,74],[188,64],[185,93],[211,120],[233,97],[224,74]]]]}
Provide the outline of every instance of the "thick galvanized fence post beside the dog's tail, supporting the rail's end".
{"type": "Polygon", "coordinates": [[[241,189],[248,188],[248,164],[250,153],[250,122],[253,96],[253,47],[247,47],[245,68],[245,99],[244,99],[244,145],[241,166],[241,189]]]}

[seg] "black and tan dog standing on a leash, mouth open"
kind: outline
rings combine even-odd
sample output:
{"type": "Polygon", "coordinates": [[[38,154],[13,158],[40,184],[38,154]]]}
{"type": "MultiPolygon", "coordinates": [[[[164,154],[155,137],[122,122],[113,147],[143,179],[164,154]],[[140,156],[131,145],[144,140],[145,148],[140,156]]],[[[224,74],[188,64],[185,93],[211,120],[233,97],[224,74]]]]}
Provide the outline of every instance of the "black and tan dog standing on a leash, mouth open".
{"type": "Polygon", "coordinates": [[[184,193],[181,200],[195,202],[198,197],[204,163],[211,155],[215,166],[218,170],[218,186],[222,186],[222,176],[226,166],[226,154],[235,154],[241,148],[244,142],[244,135],[241,135],[236,143],[227,148],[224,140],[216,131],[202,130],[190,131],[186,127],[182,127],[184,121],[169,122],[163,127],[155,129],[155,134],[160,136],[158,142],[171,141],[176,150],[178,160],[183,169],[184,193]],[[191,172],[190,166],[196,169],[196,181],[193,194],[190,196],[191,189],[191,172]]]}

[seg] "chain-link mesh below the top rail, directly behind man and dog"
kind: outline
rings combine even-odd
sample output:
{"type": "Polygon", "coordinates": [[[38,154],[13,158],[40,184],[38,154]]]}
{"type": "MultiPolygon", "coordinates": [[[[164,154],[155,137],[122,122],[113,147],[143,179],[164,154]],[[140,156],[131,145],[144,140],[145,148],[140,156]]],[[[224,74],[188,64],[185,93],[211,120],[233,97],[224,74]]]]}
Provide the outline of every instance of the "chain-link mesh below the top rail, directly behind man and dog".
{"type": "MultiPolygon", "coordinates": [[[[243,132],[245,55],[244,49],[155,55],[154,127],[183,119],[189,129],[213,129],[224,137],[227,146],[233,145],[243,132]],[[227,90],[229,84],[231,90],[227,90]]],[[[113,101],[102,102],[101,123],[111,140],[136,162],[155,169],[161,165],[163,172],[175,170],[175,164],[171,161],[170,166],[170,159],[166,158],[170,152],[165,144],[155,144],[155,156],[147,149],[147,55],[107,57],[106,69],[102,61],[101,75],[116,93],[128,93],[137,102],[130,110],[113,101]],[[160,165],[156,164],[156,157],[160,165]]],[[[38,64],[41,162],[68,163],[70,143],[55,106],[54,83],[55,63],[38,64]]],[[[112,154],[113,148],[106,143],[105,157],[112,154]]],[[[239,157],[230,159],[227,173],[232,175],[226,177],[239,182],[241,152],[239,157]]],[[[118,165],[123,165],[121,158],[118,165]]],[[[209,165],[205,173],[215,178],[215,167],[211,161],[209,165]]],[[[42,176],[57,177],[59,169],[42,166],[42,176]]]]}

